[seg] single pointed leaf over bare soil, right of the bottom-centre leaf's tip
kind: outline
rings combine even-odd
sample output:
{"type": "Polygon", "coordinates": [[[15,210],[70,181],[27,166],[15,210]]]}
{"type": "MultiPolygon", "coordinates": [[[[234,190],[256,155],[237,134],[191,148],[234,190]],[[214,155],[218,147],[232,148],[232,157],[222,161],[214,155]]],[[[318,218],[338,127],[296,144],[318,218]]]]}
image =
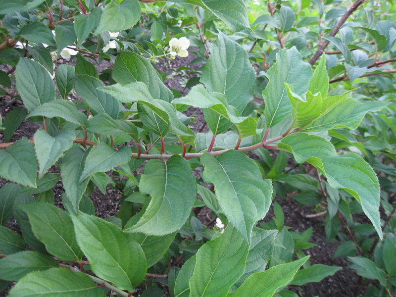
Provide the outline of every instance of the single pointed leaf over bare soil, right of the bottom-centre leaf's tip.
{"type": "Polygon", "coordinates": [[[320,282],[325,277],[335,274],[341,268],[343,267],[314,264],[308,268],[299,270],[290,284],[302,286],[306,283],[320,282]]]}

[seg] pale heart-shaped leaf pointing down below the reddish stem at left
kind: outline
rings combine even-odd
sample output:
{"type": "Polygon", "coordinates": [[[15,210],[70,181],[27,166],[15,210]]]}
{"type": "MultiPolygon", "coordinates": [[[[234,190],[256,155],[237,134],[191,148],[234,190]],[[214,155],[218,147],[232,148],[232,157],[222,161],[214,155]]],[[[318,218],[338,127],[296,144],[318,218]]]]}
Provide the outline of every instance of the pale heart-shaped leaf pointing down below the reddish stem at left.
{"type": "Polygon", "coordinates": [[[40,170],[39,178],[42,178],[63,154],[63,152],[73,145],[76,136],[73,131],[63,130],[55,134],[49,135],[44,130],[39,130],[34,135],[34,143],[37,159],[39,160],[40,170]]]}

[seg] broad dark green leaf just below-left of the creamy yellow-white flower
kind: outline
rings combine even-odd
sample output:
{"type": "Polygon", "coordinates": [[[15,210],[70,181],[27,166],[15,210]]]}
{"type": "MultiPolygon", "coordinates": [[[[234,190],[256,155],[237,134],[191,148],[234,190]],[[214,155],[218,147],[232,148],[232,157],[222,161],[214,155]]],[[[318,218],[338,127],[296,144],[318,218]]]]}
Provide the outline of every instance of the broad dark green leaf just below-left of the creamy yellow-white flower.
{"type": "Polygon", "coordinates": [[[173,100],[172,92],[164,85],[150,61],[140,54],[121,51],[114,62],[112,78],[121,85],[143,82],[153,99],[173,100]]]}

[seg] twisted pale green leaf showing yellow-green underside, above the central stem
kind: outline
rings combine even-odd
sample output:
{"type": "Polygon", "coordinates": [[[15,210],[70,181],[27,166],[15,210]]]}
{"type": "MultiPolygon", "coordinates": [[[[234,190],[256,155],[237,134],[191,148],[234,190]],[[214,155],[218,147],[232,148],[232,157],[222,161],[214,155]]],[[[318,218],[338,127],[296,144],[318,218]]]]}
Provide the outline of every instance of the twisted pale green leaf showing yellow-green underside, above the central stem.
{"type": "Polygon", "coordinates": [[[219,130],[219,116],[224,117],[228,122],[233,123],[242,138],[256,135],[256,121],[251,117],[239,116],[238,110],[227,103],[227,99],[223,94],[217,92],[209,93],[203,85],[193,87],[186,97],[178,98],[172,101],[176,104],[187,104],[206,108],[213,111],[212,114],[205,113],[206,122],[213,133],[219,134],[224,132],[219,130]]]}

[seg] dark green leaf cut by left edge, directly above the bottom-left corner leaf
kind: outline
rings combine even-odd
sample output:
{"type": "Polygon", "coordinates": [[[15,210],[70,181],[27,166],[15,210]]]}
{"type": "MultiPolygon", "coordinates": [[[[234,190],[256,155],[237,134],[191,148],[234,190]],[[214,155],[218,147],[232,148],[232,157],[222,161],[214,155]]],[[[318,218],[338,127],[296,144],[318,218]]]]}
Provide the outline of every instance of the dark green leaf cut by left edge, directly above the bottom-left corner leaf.
{"type": "Polygon", "coordinates": [[[0,259],[0,279],[19,281],[32,271],[59,267],[58,262],[38,251],[21,251],[0,259]]]}

